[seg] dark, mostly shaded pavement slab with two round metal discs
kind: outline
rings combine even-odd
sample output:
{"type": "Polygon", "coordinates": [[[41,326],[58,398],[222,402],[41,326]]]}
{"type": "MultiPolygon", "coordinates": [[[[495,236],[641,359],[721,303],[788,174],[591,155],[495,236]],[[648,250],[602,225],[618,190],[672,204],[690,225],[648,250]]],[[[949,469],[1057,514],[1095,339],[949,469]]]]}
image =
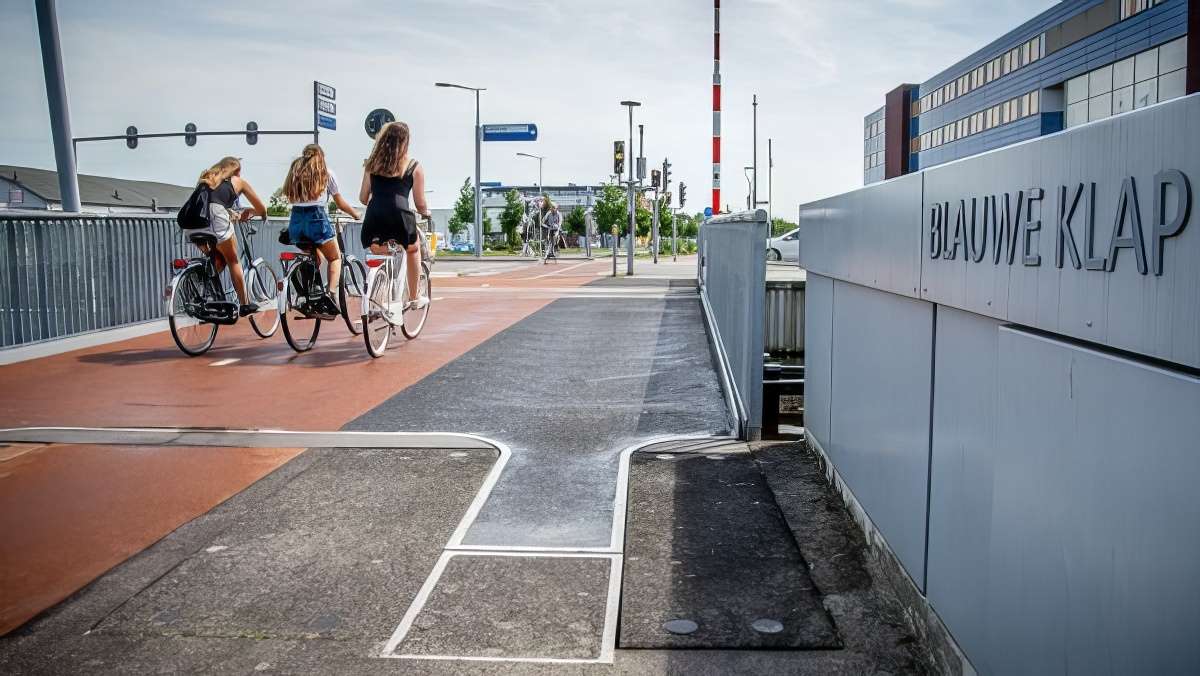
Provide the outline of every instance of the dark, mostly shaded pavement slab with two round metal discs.
{"type": "Polygon", "coordinates": [[[634,454],[629,485],[620,647],[841,646],[744,444],[634,454]]]}

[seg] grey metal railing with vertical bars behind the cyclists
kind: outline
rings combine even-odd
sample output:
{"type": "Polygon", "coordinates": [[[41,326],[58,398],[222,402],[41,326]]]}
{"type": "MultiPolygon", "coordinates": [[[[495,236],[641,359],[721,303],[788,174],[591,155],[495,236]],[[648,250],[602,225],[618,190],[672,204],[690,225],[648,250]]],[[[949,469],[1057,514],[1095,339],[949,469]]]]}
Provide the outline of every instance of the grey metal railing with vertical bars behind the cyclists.
{"type": "MultiPolygon", "coordinates": [[[[276,271],[284,226],[250,238],[276,271]]],[[[344,231],[359,257],[360,227],[344,231]]],[[[160,319],[172,261],[194,255],[174,217],[0,216],[0,348],[160,319]]]]}

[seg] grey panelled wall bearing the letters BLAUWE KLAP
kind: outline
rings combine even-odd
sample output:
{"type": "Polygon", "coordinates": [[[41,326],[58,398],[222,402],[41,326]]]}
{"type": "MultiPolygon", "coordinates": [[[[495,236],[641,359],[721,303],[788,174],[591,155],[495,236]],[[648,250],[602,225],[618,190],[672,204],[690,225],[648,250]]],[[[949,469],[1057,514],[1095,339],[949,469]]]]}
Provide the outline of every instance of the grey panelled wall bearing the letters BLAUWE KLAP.
{"type": "Polygon", "coordinates": [[[1162,275],[1150,244],[1146,274],[1129,249],[1056,264],[1060,186],[1105,196],[1097,253],[1130,177],[1144,234],[1153,177],[1196,198],[1198,119],[1193,96],[802,208],[809,436],[982,674],[1200,671],[1200,208],[1162,275]],[[935,203],[1031,187],[1013,264],[931,246],[935,203]]]}

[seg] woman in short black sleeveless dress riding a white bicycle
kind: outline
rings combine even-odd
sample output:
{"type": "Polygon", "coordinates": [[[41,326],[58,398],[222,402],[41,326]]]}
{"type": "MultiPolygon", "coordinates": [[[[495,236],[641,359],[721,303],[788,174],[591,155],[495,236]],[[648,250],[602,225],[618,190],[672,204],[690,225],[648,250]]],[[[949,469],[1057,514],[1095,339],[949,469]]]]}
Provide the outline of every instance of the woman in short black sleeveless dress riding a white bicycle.
{"type": "Polygon", "coordinates": [[[404,247],[408,257],[408,306],[418,310],[430,304],[430,299],[418,291],[421,270],[421,247],[416,229],[416,214],[430,216],[425,203],[425,169],[408,156],[408,125],[388,122],[376,138],[374,148],[362,171],[359,202],[367,205],[362,221],[362,247],[372,253],[386,256],[388,243],[404,247]],[[409,205],[412,195],[414,211],[409,205]]]}

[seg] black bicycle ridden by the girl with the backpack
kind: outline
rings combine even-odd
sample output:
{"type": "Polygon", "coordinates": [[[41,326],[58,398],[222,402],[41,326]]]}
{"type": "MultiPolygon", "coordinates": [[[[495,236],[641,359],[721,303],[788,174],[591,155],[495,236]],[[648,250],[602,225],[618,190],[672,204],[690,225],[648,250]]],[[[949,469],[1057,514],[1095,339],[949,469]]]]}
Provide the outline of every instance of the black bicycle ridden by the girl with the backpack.
{"type": "MultiPolygon", "coordinates": [[[[250,235],[257,233],[253,226],[238,222],[246,295],[252,305],[258,306],[258,311],[250,315],[250,325],[258,337],[268,339],[280,325],[280,316],[274,307],[278,276],[263,258],[254,257],[250,235]]],[[[179,349],[188,357],[199,357],[212,348],[220,327],[238,323],[239,305],[234,289],[227,288],[217,273],[216,257],[220,253],[216,238],[208,233],[190,233],[187,240],[200,249],[203,256],[172,262],[175,275],[166,292],[167,323],[179,349]]]]}

